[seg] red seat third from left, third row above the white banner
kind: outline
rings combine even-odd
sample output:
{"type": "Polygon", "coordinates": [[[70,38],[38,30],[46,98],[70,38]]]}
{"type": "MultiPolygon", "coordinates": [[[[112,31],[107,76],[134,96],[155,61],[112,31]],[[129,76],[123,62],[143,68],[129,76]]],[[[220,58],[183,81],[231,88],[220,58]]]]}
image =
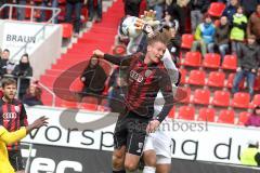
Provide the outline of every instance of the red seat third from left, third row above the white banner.
{"type": "Polygon", "coordinates": [[[208,77],[207,85],[214,88],[223,88],[225,74],[220,71],[211,71],[208,77]]]}

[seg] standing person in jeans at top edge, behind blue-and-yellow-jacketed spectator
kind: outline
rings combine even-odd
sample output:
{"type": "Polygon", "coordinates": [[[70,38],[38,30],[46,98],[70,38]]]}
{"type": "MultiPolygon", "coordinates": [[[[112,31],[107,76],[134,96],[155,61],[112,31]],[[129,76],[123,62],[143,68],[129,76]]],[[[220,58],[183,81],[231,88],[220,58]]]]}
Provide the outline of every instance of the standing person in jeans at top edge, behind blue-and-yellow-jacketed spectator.
{"type": "Polygon", "coordinates": [[[207,12],[209,8],[209,0],[191,0],[191,23],[192,32],[194,34],[198,24],[203,23],[204,13],[207,12]]]}

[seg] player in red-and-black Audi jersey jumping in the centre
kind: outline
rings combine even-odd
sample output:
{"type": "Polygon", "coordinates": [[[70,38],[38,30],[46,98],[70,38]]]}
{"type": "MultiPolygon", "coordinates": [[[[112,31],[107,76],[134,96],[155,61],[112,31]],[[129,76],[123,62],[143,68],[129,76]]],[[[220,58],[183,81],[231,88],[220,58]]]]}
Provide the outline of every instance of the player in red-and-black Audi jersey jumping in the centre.
{"type": "Polygon", "coordinates": [[[160,61],[169,37],[165,31],[148,38],[147,52],[129,56],[113,56],[100,50],[93,52],[119,66],[128,66],[128,91],[125,96],[125,112],[117,120],[114,133],[113,173],[134,171],[143,152],[147,133],[155,132],[173,105],[170,77],[160,61]],[[165,104],[160,114],[153,118],[154,101],[161,91],[165,104]]]}

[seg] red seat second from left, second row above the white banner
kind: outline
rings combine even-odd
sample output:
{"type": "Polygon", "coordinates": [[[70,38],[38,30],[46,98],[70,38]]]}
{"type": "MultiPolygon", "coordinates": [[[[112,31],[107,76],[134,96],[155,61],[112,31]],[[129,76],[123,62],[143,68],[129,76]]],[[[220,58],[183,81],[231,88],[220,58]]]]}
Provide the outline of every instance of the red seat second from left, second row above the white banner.
{"type": "Polygon", "coordinates": [[[209,90],[197,89],[194,92],[193,103],[199,105],[208,105],[209,98],[210,98],[209,90]]]}

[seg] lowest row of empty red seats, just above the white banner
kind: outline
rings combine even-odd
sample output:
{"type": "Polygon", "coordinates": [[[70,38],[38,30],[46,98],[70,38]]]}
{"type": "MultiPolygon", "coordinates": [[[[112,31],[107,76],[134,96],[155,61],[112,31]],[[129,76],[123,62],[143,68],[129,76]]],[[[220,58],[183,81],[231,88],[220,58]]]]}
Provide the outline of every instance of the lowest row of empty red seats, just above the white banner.
{"type": "MultiPolygon", "coordinates": [[[[208,121],[208,122],[218,122],[218,123],[230,123],[244,125],[249,117],[249,112],[242,111],[238,114],[238,121],[235,122],[235,111],[229,109],[222,109],[217,115],[216,109],[213,108],[200,108],[198,110],[198,116],[196,117],[195,107],[193,106],[181,106],[178,112],[178,119],[183,120],[197,120],[197,121],[208,121]]],[[[172,115],[171,115],[172,117],[172,115]]]]}

